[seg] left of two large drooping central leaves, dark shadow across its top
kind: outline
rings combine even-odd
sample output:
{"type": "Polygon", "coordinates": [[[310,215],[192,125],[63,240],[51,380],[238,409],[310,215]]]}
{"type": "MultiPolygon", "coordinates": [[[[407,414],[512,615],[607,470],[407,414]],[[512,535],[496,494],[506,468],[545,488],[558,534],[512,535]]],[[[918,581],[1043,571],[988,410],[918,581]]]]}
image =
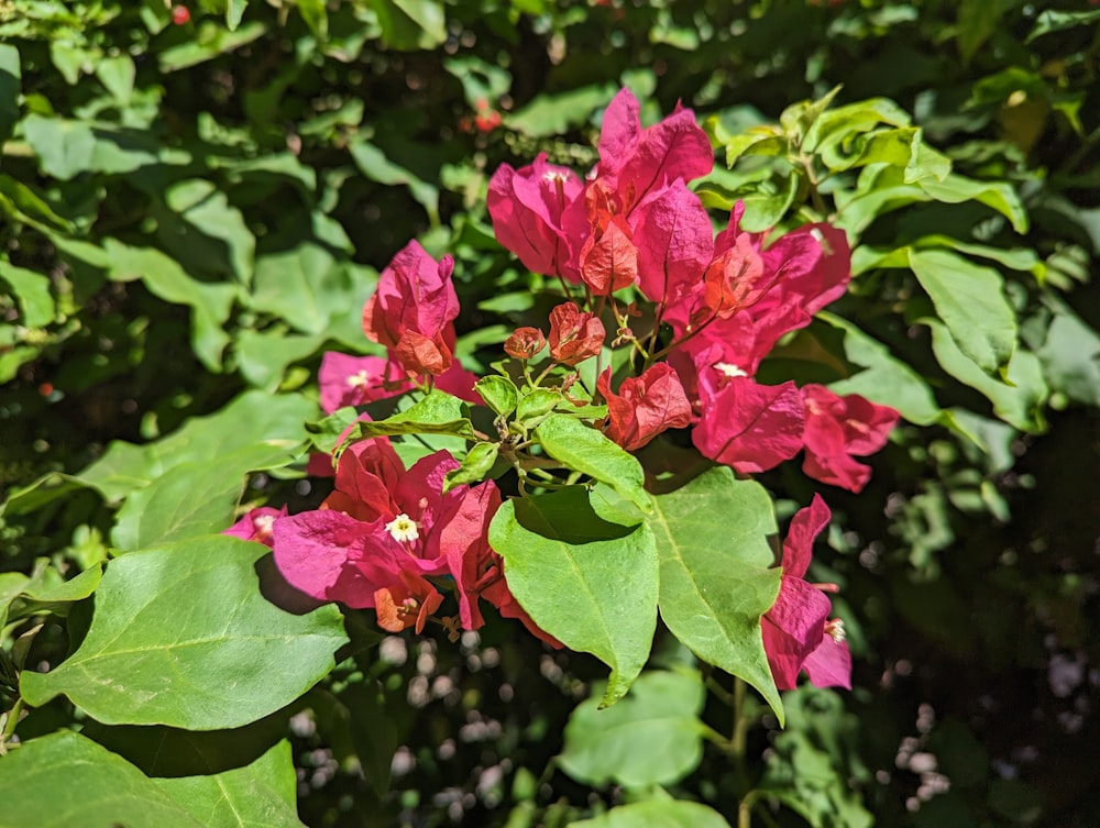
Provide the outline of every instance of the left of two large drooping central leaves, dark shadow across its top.
{"type": "Polygon", "coordinates": [[[508,588],[535,622],[612,669],[601,704],[622,698],[657,628],[657,549],[649,528],[604,521],[584,489],[574,487],[504,504],[488,541],[504,557],[508,588]]]}

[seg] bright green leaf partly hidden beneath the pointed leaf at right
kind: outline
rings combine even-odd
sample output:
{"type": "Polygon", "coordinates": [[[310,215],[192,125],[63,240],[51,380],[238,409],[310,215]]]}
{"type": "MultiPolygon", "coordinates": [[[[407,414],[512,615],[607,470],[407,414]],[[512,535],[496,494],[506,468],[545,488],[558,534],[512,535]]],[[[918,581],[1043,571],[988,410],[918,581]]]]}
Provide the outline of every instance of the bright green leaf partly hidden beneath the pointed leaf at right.
{"type": "Polygon", "coordinates": [[[1004,371],[1004,382],[993,379],[959,350],[944,324],[932,319],[921,321],[932,329],[932,351],[944,371],[981,391],[993,404],[993,413],[1009,424],[1032,433],[1046,430],[1043,407],[1048,389],[1035,354],[1016,349],[1004,371]]]}

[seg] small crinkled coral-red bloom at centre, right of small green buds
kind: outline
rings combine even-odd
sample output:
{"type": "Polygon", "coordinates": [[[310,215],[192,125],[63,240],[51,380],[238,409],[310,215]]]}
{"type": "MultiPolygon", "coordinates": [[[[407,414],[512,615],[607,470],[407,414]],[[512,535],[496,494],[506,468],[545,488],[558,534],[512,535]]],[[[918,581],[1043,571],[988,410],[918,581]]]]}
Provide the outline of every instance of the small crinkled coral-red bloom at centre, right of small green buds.
{"type": "Polygon", "coordinates": [[[612,391],[610,380],[610,368],[596,380],[607,400],[607,437],[627,451],[640,449],[666,429],[691,423],[691,404],[668,363],[657,363],[641,376],[624,379],[618,394],[612,391]]]}

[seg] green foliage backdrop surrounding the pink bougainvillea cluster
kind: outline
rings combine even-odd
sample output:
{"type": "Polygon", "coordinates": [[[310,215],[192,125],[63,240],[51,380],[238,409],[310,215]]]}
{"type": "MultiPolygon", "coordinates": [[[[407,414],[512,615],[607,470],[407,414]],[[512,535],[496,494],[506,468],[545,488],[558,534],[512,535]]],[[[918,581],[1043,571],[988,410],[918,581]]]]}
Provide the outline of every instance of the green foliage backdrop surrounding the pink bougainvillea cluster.
{"type": "MultiPolygon", "coordinates": [[[[1094,823],[1074,760],[1100,658],[1100,12],[993,5],[0,3],[9,821],[721,825],[697,799],[794,825],[1094,823]],[[263,550],[209,534],[326,494],[301,460],[312,377],[326,349],[369,351],[359,309],[409,238],[455,255],[468,368],[546,319],[487,178],[538,151],[586,167],[622,82],[651,121],[678,97],[703,117],[728,162],[694,186],[708,207],[848,234],[847,296],[760,382],[910,423],[859,498],[829,498],[813,571],[844,587],[857,692],[788,694],[781,733],[662,629],[597,714],[585,658],[495,621],[377,647],[355,612],[279,609],[263,550]]],[[[809,500],[794,470],[761,482],[809,500]]]]}

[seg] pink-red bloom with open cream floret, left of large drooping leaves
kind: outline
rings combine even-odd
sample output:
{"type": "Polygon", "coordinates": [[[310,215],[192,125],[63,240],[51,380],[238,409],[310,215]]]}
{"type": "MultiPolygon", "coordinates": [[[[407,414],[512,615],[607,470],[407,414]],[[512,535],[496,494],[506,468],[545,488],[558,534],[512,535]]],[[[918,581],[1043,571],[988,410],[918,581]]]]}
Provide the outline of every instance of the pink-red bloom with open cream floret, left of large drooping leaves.
{"type": "Polygon", "coordinates": [[[352,444],[321,508],[275,521],[275,563],[307,595],[374,607],[385,630],[419,631],[443,600],[427,576],[449,575],[465,629],[484,623],[477,607],[484,597],[537,631],[513,606],[501,559],[488,547],[501,493],[488,482],[443,494],[458,465],[440,451],[406,471],[385,438],[352,444]]]}

